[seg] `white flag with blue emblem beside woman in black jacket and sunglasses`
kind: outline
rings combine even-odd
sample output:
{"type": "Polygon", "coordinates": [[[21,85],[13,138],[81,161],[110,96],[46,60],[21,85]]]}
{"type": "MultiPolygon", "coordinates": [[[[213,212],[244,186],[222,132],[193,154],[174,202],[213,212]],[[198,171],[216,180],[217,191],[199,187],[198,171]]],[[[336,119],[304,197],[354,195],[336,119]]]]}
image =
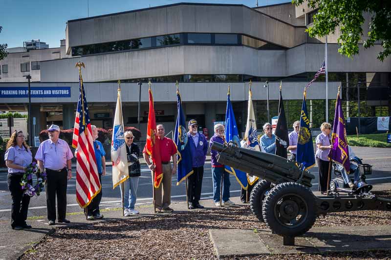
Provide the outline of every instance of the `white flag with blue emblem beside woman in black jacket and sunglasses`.
{"type": "Polygon", "coordinates": [[[128,157],[122,119],[121,89],[118,88],[117,106],[115,108],[113,136],[111,138],[111,162],[113,172],[113,189],[129,178],[128,157]]]}

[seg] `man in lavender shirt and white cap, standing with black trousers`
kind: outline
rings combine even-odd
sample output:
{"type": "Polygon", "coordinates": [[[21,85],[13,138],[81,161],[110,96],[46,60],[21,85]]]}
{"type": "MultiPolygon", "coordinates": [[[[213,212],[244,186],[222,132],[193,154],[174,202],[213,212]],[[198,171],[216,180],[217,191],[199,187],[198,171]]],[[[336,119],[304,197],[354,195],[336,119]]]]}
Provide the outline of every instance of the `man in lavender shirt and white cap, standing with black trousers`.
{"type": "Polygon", "coordinates": [[[54,225],[56,221],[56,194],[58,208],[58,222],[70,223],[66,216],[66,185],[67,180],[72,178],[72,151],[65,140],[59,139],[60,127],[52,124],[47,129],[49,139],[43,141],[38,148],[35,159],[41,171],[46,171],[47,180],[46,207],[49,225],[54,225]]]}

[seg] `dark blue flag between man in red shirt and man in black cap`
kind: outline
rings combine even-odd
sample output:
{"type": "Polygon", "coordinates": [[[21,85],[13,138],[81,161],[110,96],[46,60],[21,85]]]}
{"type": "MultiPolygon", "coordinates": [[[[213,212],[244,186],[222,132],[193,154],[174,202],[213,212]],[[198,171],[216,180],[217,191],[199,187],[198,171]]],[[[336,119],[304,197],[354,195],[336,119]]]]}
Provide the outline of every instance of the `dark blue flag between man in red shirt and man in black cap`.
{"type": "Polygon", "coordinates": [[[190,145],[188,144],[187,131],[185,128],[185,116],[182,109],[182,101],[180,98],[178,87],[176,88],[176,98],[178,107],[178,117],[176,118],[174,142],[177,149],[177,164],[178,177],[176,185],[185,180],[193,173],[192,155],[190,153],[190,145]]]}

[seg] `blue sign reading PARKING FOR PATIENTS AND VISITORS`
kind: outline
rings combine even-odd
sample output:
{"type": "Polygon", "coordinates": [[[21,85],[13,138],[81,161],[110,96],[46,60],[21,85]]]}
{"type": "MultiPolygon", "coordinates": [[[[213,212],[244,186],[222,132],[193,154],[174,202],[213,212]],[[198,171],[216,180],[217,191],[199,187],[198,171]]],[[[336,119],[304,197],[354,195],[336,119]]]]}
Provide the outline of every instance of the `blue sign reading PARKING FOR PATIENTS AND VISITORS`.
{"type": "MultiPolygon", "coordinates": [[[[70,98],[70,87],[31,87],[31,98],[70,98]]],[[[1,87],[0,99],[28,98],[28,87],[1,87]]]]}

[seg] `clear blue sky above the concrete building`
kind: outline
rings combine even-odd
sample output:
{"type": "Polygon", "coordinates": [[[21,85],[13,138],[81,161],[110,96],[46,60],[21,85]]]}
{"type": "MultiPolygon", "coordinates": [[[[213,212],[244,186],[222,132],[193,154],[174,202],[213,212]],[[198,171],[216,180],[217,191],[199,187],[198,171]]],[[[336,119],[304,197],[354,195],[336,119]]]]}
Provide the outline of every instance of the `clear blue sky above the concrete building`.
{"type": "MultiPolygon", "coordinates": [[[[258,0],[269,5],[290,0],[258,0]]],[[[225,3],[256,6],[256,0],[0,0],[0,44],[22,47],[23,41],[36,40],[60,47],[65,39],[67,20],[118,13],[178,2],[225,3]],[[88,3],[88,4],[87,4],[88,3]],[[88,8],[87,8],[88,6],[88,8]]]]}

